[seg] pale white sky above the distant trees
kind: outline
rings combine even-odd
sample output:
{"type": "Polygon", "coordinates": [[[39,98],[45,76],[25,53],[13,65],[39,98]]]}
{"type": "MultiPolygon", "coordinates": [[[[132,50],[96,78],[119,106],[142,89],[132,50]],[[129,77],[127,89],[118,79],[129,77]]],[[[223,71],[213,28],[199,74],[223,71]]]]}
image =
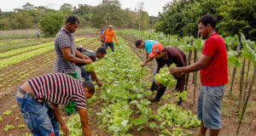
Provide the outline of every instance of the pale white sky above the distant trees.
{"type": "MultiPolygon", "coordinates": [[[[91,6],[96,6],[102,3],[102,0],[7,0],[0,3],[0,8],[2,11],[13,11],[14,8],[22,8],[26,3],[32,3],[34,6],[44,6],[47,8],[59,9],[63,3],[70,3],[73,6],[79,4],[88,4],[91,6]]],[[[144,3],[144,10],[148,12],[149,15],[157,16],[159,12],[162,12],[163,6],[172,0],[119,0],[122,8],[137,8],[137,3],[144,3]]]]}

